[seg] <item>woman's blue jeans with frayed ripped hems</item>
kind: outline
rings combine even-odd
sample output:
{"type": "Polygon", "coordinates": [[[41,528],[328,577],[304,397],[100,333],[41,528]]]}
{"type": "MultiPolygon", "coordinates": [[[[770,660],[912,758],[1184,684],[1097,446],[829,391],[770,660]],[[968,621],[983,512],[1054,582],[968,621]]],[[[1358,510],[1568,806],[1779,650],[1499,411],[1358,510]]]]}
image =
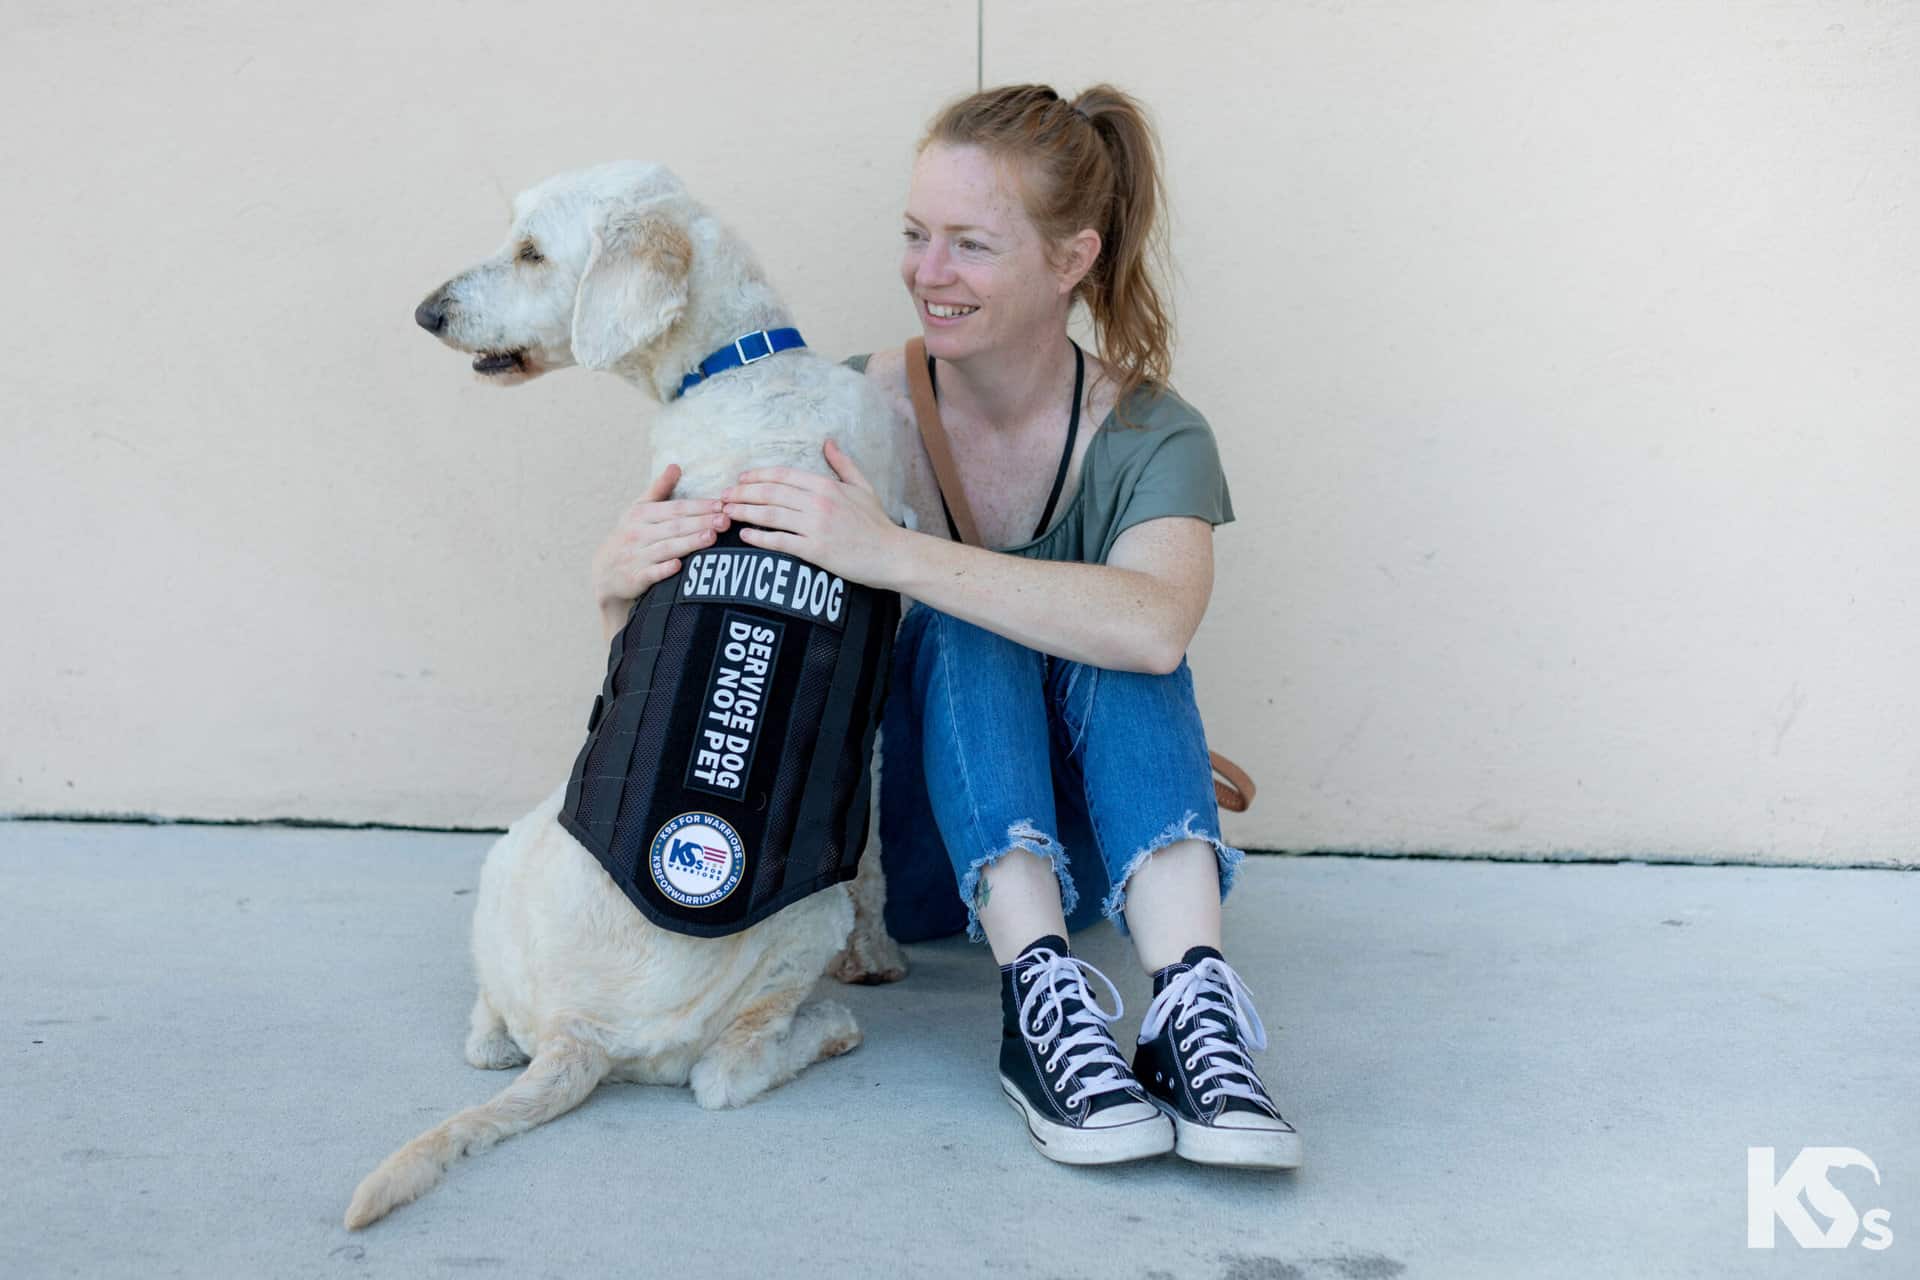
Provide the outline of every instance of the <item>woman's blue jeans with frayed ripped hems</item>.
{"type": "Polygon", "coordinates": [[[1127,879],[1185,839],[1213,846],[1221,898],[1242,852],[1219,839],[1192,672],[1116,672],[1025,649],[914,604],[893,647],[881,737],[887,931],[985,940],[981,867],[1031,848],[1060,877],[1068,929],[1121,935],[1127,879]]]}

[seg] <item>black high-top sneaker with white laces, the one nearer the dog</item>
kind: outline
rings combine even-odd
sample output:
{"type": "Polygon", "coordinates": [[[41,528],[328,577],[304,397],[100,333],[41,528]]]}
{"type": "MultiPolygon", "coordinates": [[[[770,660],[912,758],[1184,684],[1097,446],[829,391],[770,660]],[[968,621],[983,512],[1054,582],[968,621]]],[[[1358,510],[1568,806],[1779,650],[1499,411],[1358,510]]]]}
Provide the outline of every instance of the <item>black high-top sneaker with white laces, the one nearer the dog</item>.
{"type": "Polygon", "coordinates": [[[1041,1155],[1066,1165],[1112,1165],[1173,1150],[1173,1125],[1127,1071],[1108,1023],[1119,990],[1046,935],[1000,965],[1000,1090],[1027,1121],[1041,1155]],[[1087,975],[1114,992],[1108,1013],[1087,975]]]}

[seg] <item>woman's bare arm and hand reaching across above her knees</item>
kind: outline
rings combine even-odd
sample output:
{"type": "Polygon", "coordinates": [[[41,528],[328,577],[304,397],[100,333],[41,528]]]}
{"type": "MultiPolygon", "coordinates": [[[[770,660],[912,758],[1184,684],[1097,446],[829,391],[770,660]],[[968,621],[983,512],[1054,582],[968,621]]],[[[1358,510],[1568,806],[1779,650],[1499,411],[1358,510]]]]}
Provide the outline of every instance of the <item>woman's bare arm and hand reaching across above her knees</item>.
{"type": "Polygon", "coordinates": [[[1075,662],[1165,674],[1181,664],[1213,593],[1213,528],[1198,516],[1142,520],[1106,564],[1029,560],[966,547],[887,520],[872,486],[828,441],[818,476],[749,470],[726,489],[741,539],[833,574],[902,591],[945,614],[1075,662]]]}

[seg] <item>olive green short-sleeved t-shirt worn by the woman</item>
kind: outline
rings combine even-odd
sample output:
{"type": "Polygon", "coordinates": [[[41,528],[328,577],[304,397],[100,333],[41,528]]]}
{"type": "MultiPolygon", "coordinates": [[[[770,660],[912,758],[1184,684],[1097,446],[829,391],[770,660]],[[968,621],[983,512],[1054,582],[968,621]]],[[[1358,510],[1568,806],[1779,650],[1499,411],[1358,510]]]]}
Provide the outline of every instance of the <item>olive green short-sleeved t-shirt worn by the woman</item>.
{"type": "MultiPolygon", "coordinates": [[[[866,372],[866,355],[845,365],[866,372]]],[[[1127,422],[1116,413],[1100,422],[1081,461],[1079,489],[1062,493],[1066,512],[1043,535],[1018,547],[995,547],[1033,560],[1106,564],[1114,539],[1142,520],[1198,516],[1233,520],[1227,474],[1213,428],[1200,411],[1167,388],[1139,388],[1127,397],[1127,422]]]]}

